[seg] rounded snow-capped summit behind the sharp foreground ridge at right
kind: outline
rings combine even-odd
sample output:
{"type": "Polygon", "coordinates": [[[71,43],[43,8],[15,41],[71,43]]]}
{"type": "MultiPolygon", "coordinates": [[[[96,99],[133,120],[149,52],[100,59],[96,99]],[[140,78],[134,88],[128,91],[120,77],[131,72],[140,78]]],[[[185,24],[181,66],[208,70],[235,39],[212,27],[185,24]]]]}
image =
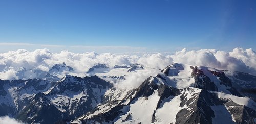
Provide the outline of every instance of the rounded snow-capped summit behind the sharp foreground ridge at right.
{"type": "Polygon", "coordinates": [[[195,87],[241,96],[225,73],[214,68],[174,63],[161,72],[157,80],[178,89],[195,87]]]}

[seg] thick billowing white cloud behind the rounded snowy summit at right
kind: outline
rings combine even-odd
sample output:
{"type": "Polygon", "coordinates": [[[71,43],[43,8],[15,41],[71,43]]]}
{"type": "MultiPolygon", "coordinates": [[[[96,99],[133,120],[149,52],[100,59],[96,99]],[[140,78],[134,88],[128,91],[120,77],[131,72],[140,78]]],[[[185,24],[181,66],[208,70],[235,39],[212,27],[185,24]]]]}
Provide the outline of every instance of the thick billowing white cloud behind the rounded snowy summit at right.
{"type": "Polygon", "coordinates": [[[256,75],[255,52],[252,49],[235,48],[232,52],[201,49],[182,51],[172,55],[173,61],[189,65],[208,66],[220,70],[242,71],[256,75]]]}

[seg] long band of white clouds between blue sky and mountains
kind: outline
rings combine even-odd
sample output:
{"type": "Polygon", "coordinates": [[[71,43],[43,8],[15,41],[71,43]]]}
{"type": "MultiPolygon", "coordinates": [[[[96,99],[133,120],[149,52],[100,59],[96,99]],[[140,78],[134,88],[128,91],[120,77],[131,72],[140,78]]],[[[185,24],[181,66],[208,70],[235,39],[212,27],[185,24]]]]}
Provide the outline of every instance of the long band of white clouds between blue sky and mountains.
{"type": "MultiPolygon", "coordinates": [[[[48,71],[54,64],[65,62],[76,70],[76,73],[86,73],[94,64],[129,65],[139,63],[147,67],[164,69],[176,62],[197,66],[209,66],[221,70],[242,71],[256,75],[256,54],[252,49],[234,48],[233,51],[217,51],[216,49],[200,49],[188,51],[182,49],[174,54],[144,54],[144,55],[117,55],[113,53],[97,54],[95,52],[72,53],[61,51],[52,53],[48,49],[27,51],[19,49],[0,53],[0,79],[17,79],[20,70],[28,73],[34,70],[48,71]]],[[[29,75],[28,78],[36,78],[29,75]]]]}

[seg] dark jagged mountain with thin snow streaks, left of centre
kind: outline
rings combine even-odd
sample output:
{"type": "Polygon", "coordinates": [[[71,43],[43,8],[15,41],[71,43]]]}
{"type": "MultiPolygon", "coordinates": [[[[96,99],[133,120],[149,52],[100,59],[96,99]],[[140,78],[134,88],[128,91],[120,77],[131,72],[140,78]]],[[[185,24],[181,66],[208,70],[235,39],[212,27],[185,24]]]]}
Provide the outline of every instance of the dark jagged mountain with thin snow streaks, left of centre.
{"type": "Polygon", "coordinates": [[[112,87],[97,76],[65,76],[50,90],[38,93],[32,103],[16,115],[26,123],[52,123],[62,119],[72,120],[83,115],[103,101],[106,89],[112,87]],[[54,113],[45,116],[46,113],[54,113]]]}

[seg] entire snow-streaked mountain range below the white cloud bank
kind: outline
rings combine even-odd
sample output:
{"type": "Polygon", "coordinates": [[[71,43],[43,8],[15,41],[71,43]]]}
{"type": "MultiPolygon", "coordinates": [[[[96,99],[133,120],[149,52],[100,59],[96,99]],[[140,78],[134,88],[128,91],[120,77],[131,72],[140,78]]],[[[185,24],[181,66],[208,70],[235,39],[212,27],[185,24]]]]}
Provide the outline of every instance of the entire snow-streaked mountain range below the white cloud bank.
{"type": "Polygon", "coordinates": [[[96,64],[84,78],[66,75],[72,71],[63,63],[48,72],[65,75],[58,81],[0,80],[0,115],[25,123],[256,123],[256,76],[248,73],[179,63],[96,64]]]}

